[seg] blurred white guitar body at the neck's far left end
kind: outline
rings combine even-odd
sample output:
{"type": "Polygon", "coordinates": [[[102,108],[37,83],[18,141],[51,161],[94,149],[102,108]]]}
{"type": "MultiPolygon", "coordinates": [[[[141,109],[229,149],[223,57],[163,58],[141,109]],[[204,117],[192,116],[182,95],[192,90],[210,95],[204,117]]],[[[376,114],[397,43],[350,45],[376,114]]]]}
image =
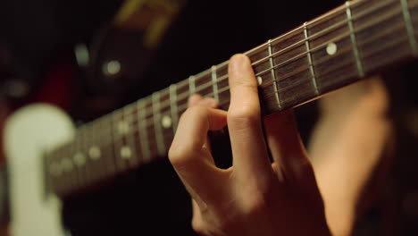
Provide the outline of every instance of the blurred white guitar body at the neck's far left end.
{"type": "Polygon", "coordinates": [[[4,127],[13,236],[63,236],[60,200],[44,192],[42,155],[72,139],[67,114],[45,104],[21,108],[4,127]]]}

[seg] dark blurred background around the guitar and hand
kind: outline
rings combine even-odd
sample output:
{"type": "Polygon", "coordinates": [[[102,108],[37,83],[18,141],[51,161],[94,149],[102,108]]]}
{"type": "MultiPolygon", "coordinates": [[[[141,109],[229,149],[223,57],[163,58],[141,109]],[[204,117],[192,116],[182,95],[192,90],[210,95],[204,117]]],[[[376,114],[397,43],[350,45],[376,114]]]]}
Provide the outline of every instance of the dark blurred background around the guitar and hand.
{"type": "MultiPolygon", "coordinates": [[[[4,0],[0,4],[0,128],[22,105],[63,108],[77,124],[245,52],[343,1],[4,0]],[[112,68],[112,69],[110,69],[112,68]]],[[[416,63],[388,77],[399,158],[355,235],[417,231],[416,63]]],[[[315,103],[297,108],[303,138],[315,103]]],[[[222,144],[227,138],[218,137],[222,144]]],[[[216,146],[215,146],[216,147],[216,146]]],[[[219,145],[222,153],[224,148],[219,145]]],[[[223,157],[221,157],[223,158],[223,157]]],[[[223,158],[228,164],[229,158],[223,158]]],[[[7,234],[7,160],[0,157],[0,235],[7,234]]],[[[191,207],[166,159],[64,199],[71,235],[193,235],[191,207]]]]}

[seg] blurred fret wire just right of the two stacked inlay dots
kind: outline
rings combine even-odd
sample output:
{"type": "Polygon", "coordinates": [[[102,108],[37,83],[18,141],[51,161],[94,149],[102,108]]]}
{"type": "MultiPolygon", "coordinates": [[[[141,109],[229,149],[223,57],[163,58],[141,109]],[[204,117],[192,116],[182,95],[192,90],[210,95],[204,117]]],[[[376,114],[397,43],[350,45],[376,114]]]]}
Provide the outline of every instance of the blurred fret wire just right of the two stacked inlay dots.
{"type": "Polygon", "coordinates": [[[151,154],[149,151],[148,132],[146,125],[146,99],[140,99],[137,102],[138,105],[138,133],[140,139],[140,145],[142,150],[142,156],[144,161],[149,162],[151,160],[151,154]]]}

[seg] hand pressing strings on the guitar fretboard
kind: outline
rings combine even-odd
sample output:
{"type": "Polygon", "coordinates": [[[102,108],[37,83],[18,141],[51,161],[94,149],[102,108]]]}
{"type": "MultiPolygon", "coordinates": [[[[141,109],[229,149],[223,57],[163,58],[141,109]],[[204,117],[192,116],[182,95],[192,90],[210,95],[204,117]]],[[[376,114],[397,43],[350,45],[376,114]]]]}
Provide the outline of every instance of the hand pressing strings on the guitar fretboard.
{"type": "MultiPolygon", "coordinates": [[[[195,105],[182,114],[169,158],[193,198],[192,226],[203,235],[330,235],[314,170],[291,112],[266,117],[247,56],[229,65],[230,109],[195,105]],[[213,164],[207,131],[228,123],[233,164],[213,164]]],[[[204,99],[201,103],[210,104],[204,99]]],[[[209,105],[211,106],[211,105],[209,105]]]]}

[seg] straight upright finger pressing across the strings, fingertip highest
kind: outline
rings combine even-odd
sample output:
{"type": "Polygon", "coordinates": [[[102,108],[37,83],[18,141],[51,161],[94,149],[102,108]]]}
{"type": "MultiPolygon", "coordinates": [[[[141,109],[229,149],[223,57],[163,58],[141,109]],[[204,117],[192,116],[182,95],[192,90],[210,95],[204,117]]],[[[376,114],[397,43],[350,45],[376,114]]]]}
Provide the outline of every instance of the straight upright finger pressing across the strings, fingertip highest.
{"type": "MultiPolygon", "coordinates": [[[[234,173],[242,176],[272,176],[261,126],[257,81],[245,55],[234,55],[229,64],[230,109],[228,129],[234,173]]],[[[263,181],[263,178],[258,178],[263,181]]]]}

